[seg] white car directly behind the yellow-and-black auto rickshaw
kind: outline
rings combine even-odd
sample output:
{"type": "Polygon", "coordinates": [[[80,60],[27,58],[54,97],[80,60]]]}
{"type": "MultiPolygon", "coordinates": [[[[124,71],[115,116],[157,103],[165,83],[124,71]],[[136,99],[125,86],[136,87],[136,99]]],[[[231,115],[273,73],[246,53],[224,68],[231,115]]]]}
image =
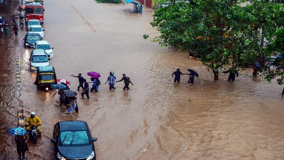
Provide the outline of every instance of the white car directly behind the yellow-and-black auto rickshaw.
{"type": "Polygon", "coordinates": [[[36,71],[39,66],[48,66],[49,60],[45,50],[32,50],[29,59],[31,71],[36,71]]]}

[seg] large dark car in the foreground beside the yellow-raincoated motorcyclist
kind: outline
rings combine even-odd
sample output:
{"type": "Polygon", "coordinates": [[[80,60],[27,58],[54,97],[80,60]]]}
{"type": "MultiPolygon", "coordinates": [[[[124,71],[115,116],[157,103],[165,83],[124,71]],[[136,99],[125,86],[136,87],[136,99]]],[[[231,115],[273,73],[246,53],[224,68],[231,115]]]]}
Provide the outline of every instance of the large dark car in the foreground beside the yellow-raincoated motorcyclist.
{"type": "Polygon", "coordinates": [[[55,157],[59,160],[95,160],[96,153],[90,129],[84,121],[63,121],[53,129],[55,157]]]}

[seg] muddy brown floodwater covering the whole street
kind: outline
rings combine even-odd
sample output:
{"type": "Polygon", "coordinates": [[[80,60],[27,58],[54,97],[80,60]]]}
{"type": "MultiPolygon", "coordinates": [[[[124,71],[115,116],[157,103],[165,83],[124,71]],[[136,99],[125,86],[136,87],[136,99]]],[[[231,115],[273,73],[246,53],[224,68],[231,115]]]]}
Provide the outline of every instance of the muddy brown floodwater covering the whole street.
{"type": "MultiPolygon", "coordinates": [[[[153,10],[143,14],[125,13],[132,4],[100,4],[93,0],[44,2],[45,37],[54,47],[50,65],[58,79],[67,79],[76,90],[82,73],[101,74],[102,84],[90,99],[78,95],[79,114],[67,115],[59,108],[57,91],[37,90],[35,73],[29,71],[32,49],[23,47],[25,27],[18,40],[12,33],[0,39],[1,127],[15,126],[16,58],[20,54],[21,95],[24,115],[36,112],[42,120],[42,138],[29,145],[29,159],[54,159],[53,126],[64,120],[86,121],[91,129],[97,159],[283,159],[284,99],[282,87],[253,77],[252,69],[239,72],[234,82],[221,74],[213,81],[212,71],[185,52],[177,52],[145,40],[143,34],[156,32],[149,22],[153,10]],[[74,10],[71,4],[76,7],[74,10]],[[83,20],[83,16],[85,19],[83,20]],[[87,20],[95,32],[86,23],[87,20]],[[194,84],[188,75],[173,83],[171,74],[180,68],[199,73],[194,84]],[[113,71],[120,79],[130,77],[133,86],[109,90],[105,82],[113,71]]],[[[90,84],[91,85],[91,84],[90,84]]],[[[82,91],[82,90],[81,90],[82,91]]],[[[80,91],[80,92],[81,92],[80,91]]],[[[78,93],[80,93],[78,92],[78,93]]],[[[13,136],[1,129],[3,160],[16,159],[13,136]]]]}

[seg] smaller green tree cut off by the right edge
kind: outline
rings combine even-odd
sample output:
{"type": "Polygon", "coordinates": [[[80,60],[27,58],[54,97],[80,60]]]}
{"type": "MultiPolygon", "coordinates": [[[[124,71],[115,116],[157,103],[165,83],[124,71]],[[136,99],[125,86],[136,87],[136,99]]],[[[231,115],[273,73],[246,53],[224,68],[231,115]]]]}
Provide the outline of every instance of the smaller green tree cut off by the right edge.
{"type": "MultiPolygon", "coordinates": [[[[265,49],[265,52],[268,52],[269,55],[275,55],[276,60],[271,61],[267,67],[264,67],[264,71],[262,73],[264,79],[268,82],[271,82],[272,79],[276,79],[279,85],[284,84],[284,29],[281,28],[275,32],[274,40],[268,47],[265,49]],[[280,55],[280,53],[282,53],[280,55]],[[271,69],[269,66],[272,65],[275,68],[271,69]]],[[[270,61],[271,57],[268,58],[270,61]]],[[[284,95],[284,87],[282,91],[282,95],[284,95]]]]}

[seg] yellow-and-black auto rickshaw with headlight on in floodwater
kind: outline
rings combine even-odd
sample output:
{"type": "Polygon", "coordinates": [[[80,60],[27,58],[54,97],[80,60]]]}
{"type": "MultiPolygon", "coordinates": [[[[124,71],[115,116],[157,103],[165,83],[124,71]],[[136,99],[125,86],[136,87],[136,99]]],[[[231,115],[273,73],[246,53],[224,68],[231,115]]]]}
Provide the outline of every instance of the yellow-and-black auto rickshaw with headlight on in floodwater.
{"type": "Polygon", "coordinates": [[[55,69],[53,66],[39,66],[37,68],[37,75],[35,85],[39,89],[49,91],[50,87],[57,84],[55,69]]]}

